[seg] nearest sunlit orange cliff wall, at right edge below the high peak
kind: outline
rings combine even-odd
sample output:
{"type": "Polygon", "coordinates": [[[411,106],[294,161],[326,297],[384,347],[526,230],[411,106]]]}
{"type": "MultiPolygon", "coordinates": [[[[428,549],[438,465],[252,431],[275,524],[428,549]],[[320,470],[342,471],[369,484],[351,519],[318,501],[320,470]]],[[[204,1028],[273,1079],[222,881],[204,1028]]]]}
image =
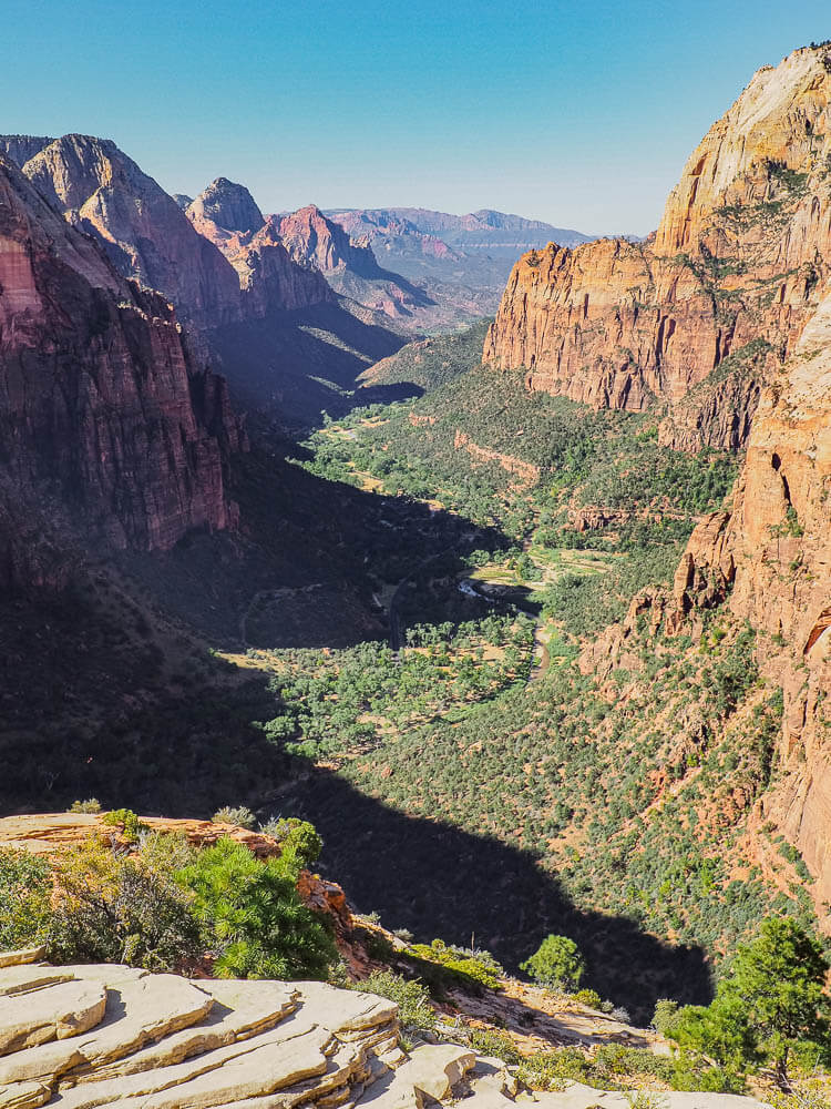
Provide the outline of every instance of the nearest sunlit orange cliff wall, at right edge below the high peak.
{"type": "Polygon", "coordinates": [[[778,774],[758,818],[796,844],[831,899],[831,293],[759,405],[730,512],[693,533],[676,576],[679,612],[728,598],[757,631],[781,685],[778,774]]]}

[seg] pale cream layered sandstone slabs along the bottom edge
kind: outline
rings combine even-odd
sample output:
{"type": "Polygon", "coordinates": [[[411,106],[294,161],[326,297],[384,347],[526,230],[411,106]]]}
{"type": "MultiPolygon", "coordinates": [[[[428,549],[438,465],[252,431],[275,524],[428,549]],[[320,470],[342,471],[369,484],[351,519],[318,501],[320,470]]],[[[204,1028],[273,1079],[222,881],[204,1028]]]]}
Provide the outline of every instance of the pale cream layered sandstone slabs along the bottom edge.
{"type": "MultiPolygon", "coordinates": [[[[0,1109],[510,1109],[499,1059],[400,1044],[398,1006],[318,981],[188,980],[117,965],[48,967],[0,956],[0,1109]]],[[[551,1109],[626,1109],[572,1085],[522,1095],[551,1109]]],[[[753,1109],[671,1093],[669,1109],[753,1109]]],[[[741,1103],[741,1106],[740,1106],[741,1103]]]]}

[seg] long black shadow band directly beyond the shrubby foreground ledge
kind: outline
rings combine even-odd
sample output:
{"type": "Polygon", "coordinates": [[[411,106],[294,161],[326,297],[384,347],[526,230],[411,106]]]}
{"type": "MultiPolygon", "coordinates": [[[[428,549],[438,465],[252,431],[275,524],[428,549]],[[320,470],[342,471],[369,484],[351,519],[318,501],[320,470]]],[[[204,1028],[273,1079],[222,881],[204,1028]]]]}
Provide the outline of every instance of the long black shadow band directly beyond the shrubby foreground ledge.
{"type": "Polygon", "coordinates": [[[273,808],[317,826],[325,843],[319,865],[388,928],[463,946],[473,936],[513,970],[548,933],[570,935],[586,956],[585,985],[636,1019],[648,1020],[660,997],[711,998],[700,948],[673,947],[625,916],[579,910],[531,855],[499,840],[407,816],[317,769],[276,796],[273,808]]]}

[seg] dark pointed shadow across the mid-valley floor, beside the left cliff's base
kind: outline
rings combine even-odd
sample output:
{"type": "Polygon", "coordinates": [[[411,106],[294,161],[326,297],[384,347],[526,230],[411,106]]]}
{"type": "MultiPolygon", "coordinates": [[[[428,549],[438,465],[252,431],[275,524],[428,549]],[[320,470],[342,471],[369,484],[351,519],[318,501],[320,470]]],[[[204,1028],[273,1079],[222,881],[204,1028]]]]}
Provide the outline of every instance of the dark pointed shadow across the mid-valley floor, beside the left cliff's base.
{"type": "Polygon", "coordinates": [[[408,620],[490,611],[485,600],[460,593],[456,581],[473,547],[507,545],[500,531],[406,497],[325,480],[286,461],[289,450],[302,455],[290,440],[253,439],[230,477],[240,511],[236,535],[195,532],[167,552],[117,557],[148,602],[211,647],[233,651],[387,639],[390,589],[422,564],[431,573],[408,589],[408,620]]]}

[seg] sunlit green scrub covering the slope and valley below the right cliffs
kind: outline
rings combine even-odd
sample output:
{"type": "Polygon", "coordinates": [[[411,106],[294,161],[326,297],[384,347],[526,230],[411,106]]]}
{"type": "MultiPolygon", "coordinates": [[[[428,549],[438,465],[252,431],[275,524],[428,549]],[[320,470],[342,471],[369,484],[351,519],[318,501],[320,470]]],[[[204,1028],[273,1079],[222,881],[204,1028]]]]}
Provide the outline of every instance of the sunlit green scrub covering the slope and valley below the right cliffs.
{"type": "MultiPolygon", "coordinates": [[[[328,734],[309,723],[319,688],[298,681],[297,660],[275,689],[281,719],[294,721],[285,739],[325,754],[358,794],[512,845],[574,906],[623,914],[718,960],[766,913],[810,922],[812,910],[801,859],[776,844],[759,857],[747,835],[753,802],[776,774],[781,718],[781,694],[758,676],[752,632],[727,613],[706,613],[700,634],[669,635],[660,606],[650,608],[696,520],[720,507],[736,460],[660,447],[656,418],[595,413],[473,366],[417,400],[330,421],[307,444],[304,465],[319,477],[428,500],[502,531],[506,549],[466,556],[471,591],[497,611],[519,603],[535,613],[545,664],[525,681],[491,683],[485,696],[465,694],[460,712],[459,699],[442,703],[442,694],[473,671],[469,655],[449,649],[430,704],[408,713],[394,681],[384,688],[379,679],[366,695],[361,675],[345,689],[359,668],[334,653],[324,669],[338,676],[327,679],[325,698],[338,726],[328,734]],[[625,654],[594,673],[603,651],[586,657],[587,644],[644,589],[625,654]]],[[[455,613],[460,578],[430,567],[416,596],[432,589],[435,599],[438,579],[455,613]]],[[[410,603],[404,614],[414,621],[419,609],[410,603]]],[[[401,658],[408,682],[407,650],[401,658]]],[[[286,662],[271,657],[267,665],[279,674],[286,662]]],[[[342,855],[338,865],[349,884],[342,855]]],[[[445,875],[418,874],[424,898],[440,903],[445,875]]],[[[403,898],[379,894],[388,919],[419,926],[403,898]]],[[[562,918],[547,924],[567,932],[562,918]]],[[[525,926],[497,939],[495,954],[515,966],[532,939],[525,926]]],[[[611,971],[607,956],[607,938],[588,943],[587,978],[606,993],[624,974],[611,971]]]]}

